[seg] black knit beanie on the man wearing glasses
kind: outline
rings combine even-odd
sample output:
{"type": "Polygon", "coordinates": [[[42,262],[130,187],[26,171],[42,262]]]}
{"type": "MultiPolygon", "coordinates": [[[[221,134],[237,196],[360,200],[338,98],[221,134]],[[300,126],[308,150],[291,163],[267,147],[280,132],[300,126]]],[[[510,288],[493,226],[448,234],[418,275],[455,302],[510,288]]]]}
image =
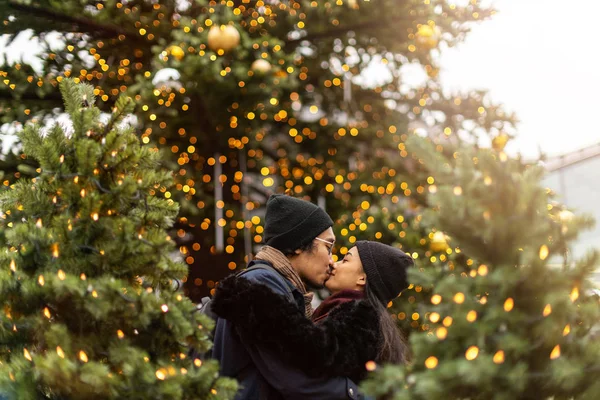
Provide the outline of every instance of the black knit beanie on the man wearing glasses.
{"type": "Polygon", "coordinates": [[[333,221],[319,206],[274,194],[267,201],[264,243],[278,250],[296,250],[331,226],[333,221]]]}

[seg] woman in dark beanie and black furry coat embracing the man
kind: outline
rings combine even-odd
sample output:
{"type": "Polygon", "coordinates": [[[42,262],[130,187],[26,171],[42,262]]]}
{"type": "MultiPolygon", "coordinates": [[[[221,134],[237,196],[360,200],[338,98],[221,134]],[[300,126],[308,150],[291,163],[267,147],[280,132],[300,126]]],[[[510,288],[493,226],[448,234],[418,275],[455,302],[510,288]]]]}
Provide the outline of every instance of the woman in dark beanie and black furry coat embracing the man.
{"type": "Polygon", "coordinates": [[[359,241],[332,268],[332,296],[307,319],[266,286],[231,276],[217,287],[213,311],[233,322],[250,343],[268,345],[312,376],[346,376],[359,382],[365,364],[407,362],[407,346],[386,305],[408,287],[413,265],[401,250],[359,241]],[[248,301],[252,299],[252,301],[248,301]]]}

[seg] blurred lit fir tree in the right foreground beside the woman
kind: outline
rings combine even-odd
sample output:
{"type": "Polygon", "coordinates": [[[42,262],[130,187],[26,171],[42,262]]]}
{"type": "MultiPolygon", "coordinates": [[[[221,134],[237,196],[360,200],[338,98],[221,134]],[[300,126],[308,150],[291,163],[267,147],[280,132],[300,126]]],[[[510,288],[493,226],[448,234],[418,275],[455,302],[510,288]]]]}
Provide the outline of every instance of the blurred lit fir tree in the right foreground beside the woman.
{"type": "Polygon", "coordinates": [[[573,260],[568,251],[592,221],[553,199],[542,167],[502,151],[462,146],[445,157],[418,137],[407,148],[435,177],[424,218],[445,245],[434,250],[460,257],[420,260],[411,282],[427,295],[409,317],[426,325],[410,337],[412,364],[379,368],[366,391],[386,399],[598,398],[600,304],[589,281],[598,254],[573,260]]]}

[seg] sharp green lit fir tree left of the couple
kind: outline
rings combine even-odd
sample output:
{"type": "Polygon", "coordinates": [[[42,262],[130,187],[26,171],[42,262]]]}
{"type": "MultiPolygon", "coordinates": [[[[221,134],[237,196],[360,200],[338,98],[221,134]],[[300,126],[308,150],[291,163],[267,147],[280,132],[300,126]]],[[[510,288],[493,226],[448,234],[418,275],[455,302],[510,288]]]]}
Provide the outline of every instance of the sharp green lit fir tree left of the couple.
{"type": "Polygon", "coordinates": [[[178,289],[178,205],[159,154],[92,86],[60,84],[70,126],[19,134],[39,165],[1,201],[0,392],[15,399],[232,398],[205,351],[212,321],[178,289]]]}

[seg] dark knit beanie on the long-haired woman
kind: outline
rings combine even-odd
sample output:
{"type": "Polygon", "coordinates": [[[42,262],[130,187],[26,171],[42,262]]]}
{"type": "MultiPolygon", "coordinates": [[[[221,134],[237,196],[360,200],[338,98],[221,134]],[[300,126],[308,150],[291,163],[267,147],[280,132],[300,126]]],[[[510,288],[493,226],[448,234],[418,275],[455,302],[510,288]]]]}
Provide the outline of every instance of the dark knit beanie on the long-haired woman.
{"type": "Polygon", "coordinates": [[[379,242],[361,240],[356,247],[369,288],[384,304],[408,287],[407,269],[414,265],[412,257],[379,242]]]}

